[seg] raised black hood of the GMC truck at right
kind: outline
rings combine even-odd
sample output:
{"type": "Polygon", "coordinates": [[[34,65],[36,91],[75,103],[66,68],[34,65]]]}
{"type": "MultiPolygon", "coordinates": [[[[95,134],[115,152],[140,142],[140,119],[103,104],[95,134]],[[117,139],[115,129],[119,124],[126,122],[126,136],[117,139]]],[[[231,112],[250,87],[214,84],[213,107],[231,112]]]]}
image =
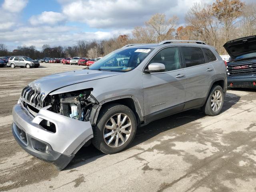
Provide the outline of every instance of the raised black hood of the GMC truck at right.
{"type": "Polygon", "coordinates": [[[224,48],[234,60],[238,56],[256,52],[256,36],[248,36],[228,41],[224,48]]]}

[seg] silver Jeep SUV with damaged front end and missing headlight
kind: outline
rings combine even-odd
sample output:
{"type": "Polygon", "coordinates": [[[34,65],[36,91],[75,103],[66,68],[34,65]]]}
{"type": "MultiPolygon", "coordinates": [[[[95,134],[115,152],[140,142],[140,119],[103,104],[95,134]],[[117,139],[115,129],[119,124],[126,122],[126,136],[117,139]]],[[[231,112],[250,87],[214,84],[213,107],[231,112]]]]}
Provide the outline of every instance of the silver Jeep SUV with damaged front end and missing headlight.
{"type": "Polygon", "coordinates": [[[220,114],[225,64],[212,46],[193,42],[130,44],[87,69],[35,80],[13,108],[14,138],[61,170],[89,141],[114,154],[154,120],[192,108],[220,114]]]}

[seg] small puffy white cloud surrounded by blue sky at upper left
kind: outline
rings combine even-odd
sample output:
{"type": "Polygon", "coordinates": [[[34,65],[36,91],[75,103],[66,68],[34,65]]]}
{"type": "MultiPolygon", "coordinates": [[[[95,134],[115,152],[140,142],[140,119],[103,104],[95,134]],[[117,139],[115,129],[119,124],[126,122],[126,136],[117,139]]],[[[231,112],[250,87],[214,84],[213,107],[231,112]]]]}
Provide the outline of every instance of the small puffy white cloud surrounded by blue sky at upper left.
{"type": "Polygon", "coordinates": [[[38,25],[38,24],[49,24],[54,25],[66,20],[66,16],[62,13],[52,12],[52,11],[44,11],[40,15],[32,16],[29,19],[30,24],[38,25]]]}

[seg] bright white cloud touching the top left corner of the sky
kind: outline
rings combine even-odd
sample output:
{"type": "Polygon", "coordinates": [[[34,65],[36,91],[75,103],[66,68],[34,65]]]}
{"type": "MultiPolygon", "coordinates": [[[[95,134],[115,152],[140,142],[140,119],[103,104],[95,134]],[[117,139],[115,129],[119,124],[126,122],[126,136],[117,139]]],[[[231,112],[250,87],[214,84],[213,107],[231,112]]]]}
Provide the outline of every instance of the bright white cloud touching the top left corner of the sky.
{"type": "Polygon", "coordinates": [[[26,7],[28,0],[4,0],[2,8],[8,12],[18,13],[26,7]]]}

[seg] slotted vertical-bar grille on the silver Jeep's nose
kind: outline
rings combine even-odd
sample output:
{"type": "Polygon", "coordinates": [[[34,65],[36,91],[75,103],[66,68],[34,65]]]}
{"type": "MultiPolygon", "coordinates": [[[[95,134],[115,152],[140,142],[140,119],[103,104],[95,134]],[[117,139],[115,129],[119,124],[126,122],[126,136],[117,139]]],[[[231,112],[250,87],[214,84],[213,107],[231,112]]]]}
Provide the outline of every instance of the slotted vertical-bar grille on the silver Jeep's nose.
{"type": "Polygon", "coordinates": [[[26,86],[22,90],[21,97],[23,98],[24,102],[29,103],[35,108],[43,107],[44,94],[41,94],[40,92],[33,90],[29,86],[26,86]]]}

